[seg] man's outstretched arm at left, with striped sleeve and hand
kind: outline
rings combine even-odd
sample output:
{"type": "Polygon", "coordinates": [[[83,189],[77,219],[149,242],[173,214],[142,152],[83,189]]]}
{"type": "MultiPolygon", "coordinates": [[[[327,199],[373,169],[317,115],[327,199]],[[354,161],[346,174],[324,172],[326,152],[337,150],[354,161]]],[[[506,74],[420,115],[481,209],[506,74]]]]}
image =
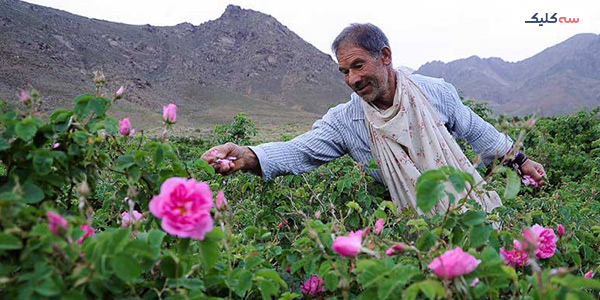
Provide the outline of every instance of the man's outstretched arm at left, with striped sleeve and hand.
{"type": "Polygon", "coordinates": [[[338,126],[335,113],[330,110],[313,124],[310,131],[291,141],[250,147],[226,144],[211,148],[202,155],[202,158],[209,163],[214,163],[216,158],[210,155],[214,150],[219,153],[219,158],[235,156],[232,154],[239,153],[240,159],[233,161],[231,165],[215,165],[215,170],[222,174],[230,174],[238,170],[250,171],[262,175],[265,180],[279,175],[300,174],[347,152],[338,126]]]}

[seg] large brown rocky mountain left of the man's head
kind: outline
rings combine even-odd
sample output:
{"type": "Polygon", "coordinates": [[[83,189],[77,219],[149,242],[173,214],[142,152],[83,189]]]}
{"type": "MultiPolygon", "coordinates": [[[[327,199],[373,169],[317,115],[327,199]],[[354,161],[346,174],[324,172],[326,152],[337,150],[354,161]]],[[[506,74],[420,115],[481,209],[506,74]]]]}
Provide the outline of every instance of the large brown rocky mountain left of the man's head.
{"type": "MultiPolygon", "coordinates": [[[[127,86],[121,107],[144,115],[174,102],[192,126],[247,111],[259,122],[311,119],[346,101],[333,59],[275,18],[228,6],[200,25],[137,26],[0,0],[0,98],[40,90],[48,107],[93,91],[94,70],[127,86]]],[[[143,120],[140,120],[143,121],[143,120]]]]}

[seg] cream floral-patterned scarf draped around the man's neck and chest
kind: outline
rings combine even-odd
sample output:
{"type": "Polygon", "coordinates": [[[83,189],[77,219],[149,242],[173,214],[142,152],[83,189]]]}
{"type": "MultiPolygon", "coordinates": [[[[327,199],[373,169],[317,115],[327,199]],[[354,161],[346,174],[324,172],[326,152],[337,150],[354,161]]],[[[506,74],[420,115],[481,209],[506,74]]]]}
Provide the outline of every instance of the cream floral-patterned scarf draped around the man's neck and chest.
{"type": "MultiPolygon", "coordinates": [[[[411,206],[422,214],[417,208],[415,189],[421,173],[448,165],[473,175],[475,183],[483,179],[440,122],[427,96],[402,71],[398,70],[396,74],[394,103],[387,110],[380,111],[363,100],[365,122],[371,151],[392,201],[398,208],[411,206]]],[[[466,189],[462,193],[455,193],[457,201],[466,198],[469,187],[466,183],[466,189]]],[[[446,191],[455,192],[449,183],[446,183],[446,191]]],[[[475,190],[469,198],[481,204],[487,212],[502,205],[500,197],[494,191],[475,190]]],[[[448,206],[448,197],[444,196],[432,212],[445,212],[448,206]]]]}

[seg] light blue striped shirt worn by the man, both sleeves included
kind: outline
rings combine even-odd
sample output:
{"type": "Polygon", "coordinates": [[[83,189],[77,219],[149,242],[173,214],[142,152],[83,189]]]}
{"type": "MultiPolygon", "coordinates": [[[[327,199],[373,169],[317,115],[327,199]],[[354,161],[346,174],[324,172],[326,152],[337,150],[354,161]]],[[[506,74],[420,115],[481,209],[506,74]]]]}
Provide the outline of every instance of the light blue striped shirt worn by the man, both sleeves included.
{"type": "MultiPolygon", "coordinates": [[[[510,150],[513,144],[510,137],[465,106],[452,84],[442,78],[417,74],[409,77],[429,97],[448,131],[455,138],[466,139],[485,164],[510,150]]],[[[310,131],[291,141],[250,147],[258,157],[263,178],[307,172],[347,153],[367,165],[373,156],[360,101],[353,93],[350,101],[329,109],[310,131]]],[[[382,182],[379,170],[371,175],[382,182]]]]}

